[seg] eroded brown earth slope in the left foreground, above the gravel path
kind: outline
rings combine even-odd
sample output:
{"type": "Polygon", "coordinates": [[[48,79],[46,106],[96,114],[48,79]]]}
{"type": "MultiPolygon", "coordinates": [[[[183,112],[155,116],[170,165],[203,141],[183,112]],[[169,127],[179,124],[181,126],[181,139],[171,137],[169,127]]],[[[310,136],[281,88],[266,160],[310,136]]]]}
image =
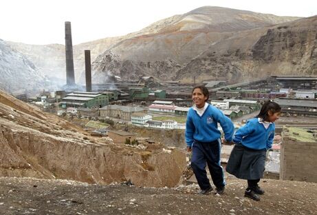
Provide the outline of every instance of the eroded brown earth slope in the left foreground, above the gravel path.
{"type": "Polygon", "coordinates": [[[179,150],[113,144],[0,91],[0,176],[65,178],[109,184],[175,186],[186,159],[179,150]],[[166,177],[166,176],[171,177],[166,177]]]}

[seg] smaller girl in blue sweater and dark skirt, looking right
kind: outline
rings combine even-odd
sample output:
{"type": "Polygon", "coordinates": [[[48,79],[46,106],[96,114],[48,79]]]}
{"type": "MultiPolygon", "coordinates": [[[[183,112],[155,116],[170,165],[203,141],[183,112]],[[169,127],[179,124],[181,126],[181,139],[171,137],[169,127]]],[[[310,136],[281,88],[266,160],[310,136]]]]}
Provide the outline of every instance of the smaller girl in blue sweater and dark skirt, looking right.
{"type": "Polygon", "coordinates": [[[272,147],[275,124],[281,114],[281,107],[274,101],[266,101],[259,113],[250,119],[234,134],[235,143],[226,171],[237,178],[247,179],[248,188],[244,196],[255,201],[260,200],[264,190],[259,187],[260,178],[263,177],[266,151],[272,147]]]}

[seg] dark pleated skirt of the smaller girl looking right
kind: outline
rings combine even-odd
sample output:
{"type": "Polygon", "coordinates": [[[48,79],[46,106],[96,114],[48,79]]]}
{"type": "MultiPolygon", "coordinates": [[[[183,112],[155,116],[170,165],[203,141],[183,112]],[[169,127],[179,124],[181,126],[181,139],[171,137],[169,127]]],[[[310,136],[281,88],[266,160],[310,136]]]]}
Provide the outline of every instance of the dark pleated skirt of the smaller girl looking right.
{"type": "Polygon", "coordinates": [[[226,171],[241,179],[263,178],[265,157],[266,150],[252,150],[237,143],[230,154],[226,171]]]}

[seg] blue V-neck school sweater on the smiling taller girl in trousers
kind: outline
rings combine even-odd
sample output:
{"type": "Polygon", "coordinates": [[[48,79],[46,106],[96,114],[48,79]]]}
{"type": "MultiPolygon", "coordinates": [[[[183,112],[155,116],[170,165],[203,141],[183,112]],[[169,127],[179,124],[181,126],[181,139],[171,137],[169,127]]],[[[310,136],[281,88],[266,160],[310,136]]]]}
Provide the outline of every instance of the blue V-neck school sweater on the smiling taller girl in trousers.
{"type": "Polygon", "coordinates": [[[234,126],[232,121],[221,110],[208,104],[204,114],[199,116],[193,107],[190,107],[186,120],[186,144],[191,147],[194,140],[208,143],[219,139],[221,133],[218,130],[217,123],[220,123],[226,141],[231,141],[234,126]]]}

